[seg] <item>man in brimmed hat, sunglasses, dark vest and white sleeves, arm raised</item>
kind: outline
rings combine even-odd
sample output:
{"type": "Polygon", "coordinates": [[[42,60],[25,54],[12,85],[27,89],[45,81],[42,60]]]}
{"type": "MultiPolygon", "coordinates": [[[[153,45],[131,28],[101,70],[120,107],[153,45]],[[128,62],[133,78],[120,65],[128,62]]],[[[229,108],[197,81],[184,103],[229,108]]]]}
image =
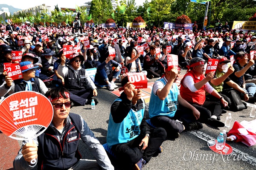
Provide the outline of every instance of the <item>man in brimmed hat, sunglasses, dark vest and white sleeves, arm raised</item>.
{"type": "MultiPolygon", "coordinates": [[[[70,99],[76,106],[90,105],[92,97],[98,94],[93,80],[81,68],[81,62],[84,62],[84,56],[73,54],[66,66],[66,56],[62,55],[58,66],[58,74],[64,78],[65,88],[70,91],[70,99]]],[[[93,99],[97,105],[98,99],[93,99]]]]}

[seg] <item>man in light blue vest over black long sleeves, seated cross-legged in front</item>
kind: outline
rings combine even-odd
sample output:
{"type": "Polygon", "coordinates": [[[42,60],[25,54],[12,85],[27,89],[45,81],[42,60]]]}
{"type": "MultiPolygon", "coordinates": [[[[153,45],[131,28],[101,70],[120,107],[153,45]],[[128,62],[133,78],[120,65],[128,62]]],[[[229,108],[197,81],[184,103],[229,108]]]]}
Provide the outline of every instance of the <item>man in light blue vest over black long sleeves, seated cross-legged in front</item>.
{"type": "Polygon", "coordinates": [[[154,154],[161,153],[166,131],[148,127],[142,90],[134,89],[128,77],[122,79],[122,87],[124,92],[111,105],[107,143],[122,161],[122,169],[141,170],[154,154]]]}

